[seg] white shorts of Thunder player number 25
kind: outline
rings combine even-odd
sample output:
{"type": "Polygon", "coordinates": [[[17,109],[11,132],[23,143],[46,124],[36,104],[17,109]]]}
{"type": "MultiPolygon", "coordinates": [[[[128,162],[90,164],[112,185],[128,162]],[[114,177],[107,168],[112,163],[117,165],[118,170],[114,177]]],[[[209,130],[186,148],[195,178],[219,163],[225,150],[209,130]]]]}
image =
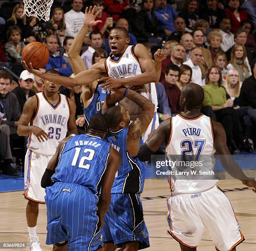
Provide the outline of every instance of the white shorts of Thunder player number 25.
{"type": "Polygon", "coordinates": [[[31,201],[45,203],[45,189],[41,187],[41,179],[52,156],[41,155],[30,149],[25,156],[24,191],[25,197],[31,201]]]}

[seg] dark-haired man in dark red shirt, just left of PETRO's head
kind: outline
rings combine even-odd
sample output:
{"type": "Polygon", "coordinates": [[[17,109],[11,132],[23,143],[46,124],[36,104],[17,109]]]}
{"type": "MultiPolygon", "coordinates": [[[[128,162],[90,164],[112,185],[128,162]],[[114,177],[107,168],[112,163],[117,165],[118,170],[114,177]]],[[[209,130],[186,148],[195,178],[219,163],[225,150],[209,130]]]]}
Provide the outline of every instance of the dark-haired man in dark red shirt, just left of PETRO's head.
{"type": "Polygon", "coordinates": [[[180,113],[180,90],[179,87],[176,85],[176,82],[179,79],[179,72],[179,66],[168,65],[166,68],[166,74],[164,75],[165,79],[161,81],[168,96],[169,107],[172,111],[172,115],[180,113]]]}

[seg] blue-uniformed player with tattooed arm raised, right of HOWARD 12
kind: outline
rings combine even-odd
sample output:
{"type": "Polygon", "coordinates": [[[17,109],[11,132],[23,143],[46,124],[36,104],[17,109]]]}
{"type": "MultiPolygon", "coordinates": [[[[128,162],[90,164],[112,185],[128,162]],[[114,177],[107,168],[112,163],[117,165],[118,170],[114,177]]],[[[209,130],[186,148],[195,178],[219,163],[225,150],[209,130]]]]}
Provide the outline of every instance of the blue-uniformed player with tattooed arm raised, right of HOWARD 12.
{"type": "Polygon", "coordinates": [[[148,231],[143,219],[140,197],[145,180],[146,163],[138,160],[138,150],[143,143],[141,135],[154,114],[154,104],[133,90],[120,88],[111,92],[106,103],[127,97],[136,103],[141,112],[130,124],[130,115],[122,106],[113,106],[105,111],[109,132],[105,140],[121,154],[121,165],[111,193],[111,204],[104,217],[102,228],[104,249],[114,251],[116,246],[125,251],[136,251],[149,246],[148,231]],[[129,125],[130,124],[130,125],[129,125]]]}

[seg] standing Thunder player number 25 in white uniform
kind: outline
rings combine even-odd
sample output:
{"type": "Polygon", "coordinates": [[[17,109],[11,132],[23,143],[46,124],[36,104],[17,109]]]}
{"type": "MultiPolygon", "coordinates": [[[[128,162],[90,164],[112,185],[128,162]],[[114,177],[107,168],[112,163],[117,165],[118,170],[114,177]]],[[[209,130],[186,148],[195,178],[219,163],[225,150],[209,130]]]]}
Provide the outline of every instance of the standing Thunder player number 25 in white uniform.
{"type": "MultiPolygon", "coordinates": [[[[48,70],[50,75],[59,75],[48,70]]],[[[42,250],[36,234],[38,203],[45,203],[41,178],[59,142],[69,134],[77,134],[75,106],[72,100],[59,94],[59,85],[44,80],[45,91],[28,98],[18,123],[18,135],[28,136],[25,157],[25,197],[28,199],[26,217],[30,236],[30,250],[42,250]]]]}

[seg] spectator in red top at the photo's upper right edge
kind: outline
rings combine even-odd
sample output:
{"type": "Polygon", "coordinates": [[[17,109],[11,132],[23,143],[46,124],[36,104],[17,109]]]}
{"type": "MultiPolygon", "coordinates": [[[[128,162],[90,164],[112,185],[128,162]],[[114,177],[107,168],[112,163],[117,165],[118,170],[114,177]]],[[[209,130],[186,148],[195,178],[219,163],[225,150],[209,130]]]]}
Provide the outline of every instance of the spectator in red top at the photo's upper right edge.
{"type": "Polygon", "coordinates": [[[239,0],[228,0],[227,8],[225,8],[226,15],[231,22],[232,33],[239,29],[243,20],[248,19],[248,14],[245,10],[240,10],[239,0]]]}

